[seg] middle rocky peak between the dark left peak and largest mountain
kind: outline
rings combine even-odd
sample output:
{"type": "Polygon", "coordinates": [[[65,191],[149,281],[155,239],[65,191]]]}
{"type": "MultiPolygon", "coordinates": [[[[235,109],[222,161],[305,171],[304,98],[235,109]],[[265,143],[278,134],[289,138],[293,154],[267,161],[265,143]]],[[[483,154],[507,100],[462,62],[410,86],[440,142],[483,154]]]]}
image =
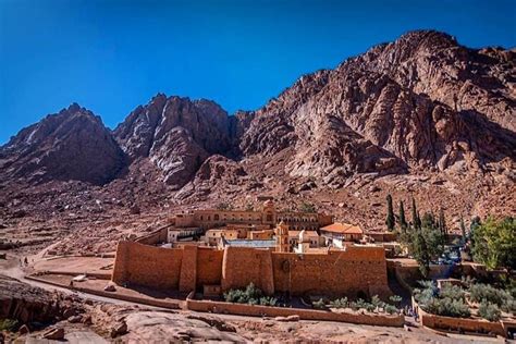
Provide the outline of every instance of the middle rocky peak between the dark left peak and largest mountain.
{"type": "Polygon", "coordinates": [[[242,132],[220,106],[209,100],[157,95],[138,107],[114,134],[122,149],[135,160],[149,157],[173,188],[189,182],[211,155],[226,155],[242,132]]]}

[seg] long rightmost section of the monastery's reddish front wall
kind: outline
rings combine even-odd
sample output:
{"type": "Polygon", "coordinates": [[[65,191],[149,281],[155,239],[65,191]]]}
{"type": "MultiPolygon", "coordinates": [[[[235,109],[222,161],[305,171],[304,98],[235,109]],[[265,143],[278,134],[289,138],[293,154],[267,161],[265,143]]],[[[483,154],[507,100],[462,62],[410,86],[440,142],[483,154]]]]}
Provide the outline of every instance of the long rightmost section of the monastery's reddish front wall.
{"type": "Polygon", "coordinates": [[[329,254],[272,254],[274,290],[321,295],[390,294],[383,248],[348,247],[329,254]]]}

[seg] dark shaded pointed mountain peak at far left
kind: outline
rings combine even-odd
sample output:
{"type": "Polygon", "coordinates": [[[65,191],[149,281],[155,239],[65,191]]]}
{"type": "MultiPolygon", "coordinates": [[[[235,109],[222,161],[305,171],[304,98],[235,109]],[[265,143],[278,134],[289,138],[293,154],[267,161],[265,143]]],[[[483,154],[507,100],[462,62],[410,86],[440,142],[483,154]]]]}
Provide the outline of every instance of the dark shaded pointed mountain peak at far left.
{"type": "Polygon", "coordinates": [[[73,103],[22,130],[0,147],[4,182],[77,180],[105,184],[125,167],[125,155],[99,116],[73,103]]]}

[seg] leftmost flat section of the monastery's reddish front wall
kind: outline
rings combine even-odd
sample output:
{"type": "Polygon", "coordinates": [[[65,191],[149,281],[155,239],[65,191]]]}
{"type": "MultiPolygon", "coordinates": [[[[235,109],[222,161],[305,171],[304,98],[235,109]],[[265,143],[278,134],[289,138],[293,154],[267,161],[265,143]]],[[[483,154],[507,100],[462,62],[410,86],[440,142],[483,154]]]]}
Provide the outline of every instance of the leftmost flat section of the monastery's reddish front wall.
{"type": "Polygon", "coordinates": [[[177,290],[183,249],[160,248],[134,242],[120,242],[113,282],[177,290]]]}

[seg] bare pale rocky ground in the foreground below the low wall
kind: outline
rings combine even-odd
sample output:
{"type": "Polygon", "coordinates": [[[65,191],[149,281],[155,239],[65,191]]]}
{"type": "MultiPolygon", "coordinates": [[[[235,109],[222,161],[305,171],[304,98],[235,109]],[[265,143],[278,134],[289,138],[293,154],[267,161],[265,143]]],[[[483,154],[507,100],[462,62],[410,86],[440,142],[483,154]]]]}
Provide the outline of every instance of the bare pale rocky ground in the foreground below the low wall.
{"type": "Polygon", "coordinates": [[[119,343],[452,343],[452,339],[417,327],[407,330],[337,322],[285,322],[107,304],[89,297],[49,292],[4,275],[0,275],[0,319],[19,320],[9,331],[2,331],[5,342],[16,343],[42,343],[38,342],[42,339],[70,343],[79,343],[81,340],[88,343],[113,340],[119,343]]]}

